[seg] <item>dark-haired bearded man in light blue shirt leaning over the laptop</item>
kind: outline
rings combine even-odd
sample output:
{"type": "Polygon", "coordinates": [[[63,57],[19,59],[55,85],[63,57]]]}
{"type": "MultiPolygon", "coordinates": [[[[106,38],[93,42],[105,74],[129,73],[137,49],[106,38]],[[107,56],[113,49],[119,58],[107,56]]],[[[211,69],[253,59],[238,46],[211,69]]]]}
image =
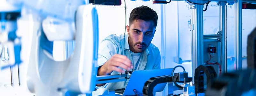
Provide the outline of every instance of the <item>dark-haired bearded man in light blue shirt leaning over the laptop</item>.
{"type": "MultiPolygon", "coordinates": [[[[132,10],[127,35],[110,35],[99,47],[98,76],[115,75],[125,71],[160,69],[159,49],[151,44],[156,32],[157,14],[147,6],[132,10]]],[[[125,88],[128,81],[97,84],[97,91],[102,94],[108,89],[125,88]]]]}

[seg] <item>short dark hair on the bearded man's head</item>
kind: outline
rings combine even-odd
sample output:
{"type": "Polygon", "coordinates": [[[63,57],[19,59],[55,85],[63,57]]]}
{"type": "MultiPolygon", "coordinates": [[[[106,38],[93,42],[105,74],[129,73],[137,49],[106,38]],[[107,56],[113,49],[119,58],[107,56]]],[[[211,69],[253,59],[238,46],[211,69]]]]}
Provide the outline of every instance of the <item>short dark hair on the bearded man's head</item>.
{"type": "Polygon", "coordinates": [[[129,18],[129,26],[132,24],[133,20],[144,20],[153,21],[156,27],[157,25],[157,14],[156,11],[149,8],[148,6],[139,6],[132,10],[129,18]]]}

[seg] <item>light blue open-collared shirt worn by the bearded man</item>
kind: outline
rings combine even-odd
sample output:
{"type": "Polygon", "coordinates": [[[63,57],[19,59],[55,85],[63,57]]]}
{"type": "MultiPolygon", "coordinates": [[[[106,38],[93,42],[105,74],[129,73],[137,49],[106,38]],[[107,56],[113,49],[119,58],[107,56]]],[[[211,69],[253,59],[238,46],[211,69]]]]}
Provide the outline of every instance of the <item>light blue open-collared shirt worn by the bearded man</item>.
{"type": "MultiPolygon", "coordinates": [[[[109,60],[114,54],[121,54],[129,58],[132,62],[132,53],[128,44],[128,35],[116,36],[115,34],[106,37],[99,46],[98,53],[98,67],[103,65],[109,60]]],[[[159,49],[154,45],[150,44],[148,48],[141,53],[141,57],[138,63],[133,67],[138,70],[147,69],[160,69],[161,57],[159,49]]],[[[136,69],[135,69],[136,70],[136,69]]],[[[131,69],[132,71],[132,69],[131,69]]],[[[111,75],[119,74],[113,71],[111,75]]],[[[129,79],[123,82],[107,83],[103,86],[98,87],[97,91],[92,92],[93,95],[101,95],[108,89],[121,89],[125,88],[129,79]]]]}

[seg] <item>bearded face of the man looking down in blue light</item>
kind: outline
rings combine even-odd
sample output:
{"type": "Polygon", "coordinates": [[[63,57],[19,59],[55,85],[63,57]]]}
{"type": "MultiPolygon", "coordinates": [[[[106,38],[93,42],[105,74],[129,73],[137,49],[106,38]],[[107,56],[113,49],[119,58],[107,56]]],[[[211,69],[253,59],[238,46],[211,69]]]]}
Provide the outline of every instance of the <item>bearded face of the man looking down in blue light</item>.
{"type": "Polygon", "coordinates": [[[130,27],[126,26],[128,32],[128,43],[132,52],[145,51],[151,43],[156,27],[153,21],[133,20],[130,27]]]}

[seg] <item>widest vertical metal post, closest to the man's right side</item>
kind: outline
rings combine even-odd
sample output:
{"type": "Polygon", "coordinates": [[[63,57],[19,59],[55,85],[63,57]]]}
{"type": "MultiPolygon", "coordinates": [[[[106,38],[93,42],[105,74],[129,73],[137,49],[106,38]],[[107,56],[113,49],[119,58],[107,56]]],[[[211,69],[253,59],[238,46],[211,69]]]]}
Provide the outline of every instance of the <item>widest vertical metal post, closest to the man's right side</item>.
{"type": "MultiPolygon", "coordinates": [[[[201,1],[195,3],[202,3],[201,1]]],[[[192,9],[192,77],[194,82],[194,74],[197,66],[204,64],[203,56],[203,7],[204,5],[195,4],[195,9],[192,9]]]]}

